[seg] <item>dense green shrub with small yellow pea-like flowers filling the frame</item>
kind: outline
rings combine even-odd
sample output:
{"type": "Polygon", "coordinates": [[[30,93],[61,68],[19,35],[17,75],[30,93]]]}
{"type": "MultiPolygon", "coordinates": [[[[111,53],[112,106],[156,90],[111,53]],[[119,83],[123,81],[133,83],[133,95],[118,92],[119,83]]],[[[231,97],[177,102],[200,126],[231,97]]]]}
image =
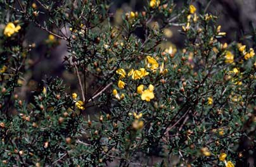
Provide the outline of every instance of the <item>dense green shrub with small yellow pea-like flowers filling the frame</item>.
{"type": "Polygon", "coordinates": [[[255,152],[255,41],[220,42],[217,16],[190,1],[151,0],[120,22],[105,0],[0,4],[1,166],[231,167],[255,152]],[[31,26],[48,32],[49,48],[67,42],[79,91],[47,78],[18,96],[31,26]],[[172,26],[184,48],[166,47],[172,26]]]}

